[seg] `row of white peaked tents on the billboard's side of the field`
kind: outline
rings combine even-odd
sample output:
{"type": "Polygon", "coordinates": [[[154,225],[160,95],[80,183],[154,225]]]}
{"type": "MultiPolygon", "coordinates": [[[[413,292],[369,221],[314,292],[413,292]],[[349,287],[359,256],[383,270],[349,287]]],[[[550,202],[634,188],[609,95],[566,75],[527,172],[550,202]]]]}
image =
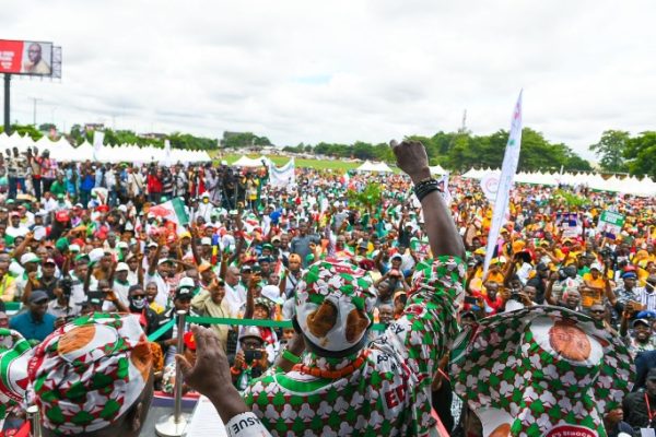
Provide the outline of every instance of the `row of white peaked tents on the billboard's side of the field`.
{"type": "MultiPolygon", "coordinates": [[[[103,163],[120,163],[120,162],[162,162],[162,163],[204,163],[211,162],[210,155],[203,151],[187,151],[173,149],[171,156],[166,156],[164,149],[156,149],[153,146],[139,147],[134,144],[122,144],[117,146],[105,145],[101,149],[97,160],[94,156],[93,145],[86,140],[81,145],[73,147],[63,137],[57,141],[50,141],[48,138],[43,137],[38,141],[32,140],[28,135],[21,137],[19,133],[13,132],[11,135],[7,135],[4,132],[0,133],[0,151],[5,149],[17,147],[19,152],[27,151],[27,147],[36,146],[40,152],[44,150],[50,151],[50,156],[57,161],[99,161],[103,163]]],[[[260,164],[261,165],[261,164],[260,164]]]]}

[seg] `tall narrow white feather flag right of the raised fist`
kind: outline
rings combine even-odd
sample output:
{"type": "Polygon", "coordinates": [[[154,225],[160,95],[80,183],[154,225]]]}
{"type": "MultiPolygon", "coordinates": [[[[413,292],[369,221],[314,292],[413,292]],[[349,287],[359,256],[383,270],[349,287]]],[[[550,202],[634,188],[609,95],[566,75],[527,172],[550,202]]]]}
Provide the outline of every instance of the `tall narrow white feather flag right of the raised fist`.
{"type": "Polygon", "coordinates": [[[494,198],[494,212],[492,213],[492,226],[488,235],[488,247],[485,248],[485,264],[483,265],[483,274],[490,267],[490,261],[494,255],[494,247],[499,239],[499,232],[503,225],[506,210],[508,209],[511,188],[513,188],[513,179],[517,173],[517,164],[519,163],[519,150],[522,149],[522,93],[517,97],[515,110],[513,111],[513,121],[511,122],[511,134],[508,143],[503,155],[503,165],[501,166],[501,177],[499,178],[499,188],[494,198]]]}

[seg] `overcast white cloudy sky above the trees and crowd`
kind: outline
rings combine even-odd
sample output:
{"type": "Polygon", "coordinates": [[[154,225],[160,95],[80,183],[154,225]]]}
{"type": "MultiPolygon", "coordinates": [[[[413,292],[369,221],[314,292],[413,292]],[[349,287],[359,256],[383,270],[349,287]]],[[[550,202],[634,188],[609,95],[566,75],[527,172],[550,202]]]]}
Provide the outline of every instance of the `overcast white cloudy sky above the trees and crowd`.
{"type": "Polygon", "coordinates": [[[653,129],[656,3],[128,1],[3,4],[7,38],[63,47],[61,83],[12,82],[12,119],[104,121],[279,144],[386,141],[525,122],[590,157],[653,129]]]}

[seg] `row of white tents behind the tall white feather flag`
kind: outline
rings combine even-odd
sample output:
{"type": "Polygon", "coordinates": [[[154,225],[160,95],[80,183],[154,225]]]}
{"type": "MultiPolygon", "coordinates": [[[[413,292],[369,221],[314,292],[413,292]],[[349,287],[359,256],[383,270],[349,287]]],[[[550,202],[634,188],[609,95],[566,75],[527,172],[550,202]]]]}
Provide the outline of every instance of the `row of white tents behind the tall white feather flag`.
{"type": "MultiPolygon", "coordinates": [[[[488,174],[501,175],[500,169],[475,169],[462,175],[464,178],[482,179],[488,174]]],[[[520,172],[515,175],[515,182],[544,185],[555,187],[558,185],[566,185],[572,187],[585,186],[598,191],[612,191],[625,194],[651,197],[656,196],[656,182],[648,177],[639,179],[635,176],[619,178],[611,176],[604,179],[601,175],[595,173],[525,173],[520,172]]]]}

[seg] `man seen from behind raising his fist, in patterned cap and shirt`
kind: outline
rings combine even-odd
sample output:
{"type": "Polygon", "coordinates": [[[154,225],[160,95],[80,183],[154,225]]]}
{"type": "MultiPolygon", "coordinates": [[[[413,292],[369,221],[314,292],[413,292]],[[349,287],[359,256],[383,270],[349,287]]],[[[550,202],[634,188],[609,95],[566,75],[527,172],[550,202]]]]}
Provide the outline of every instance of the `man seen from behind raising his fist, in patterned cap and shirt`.
{"type": "Polygon", "coordinates": [[[296,288],[294,323],[302,336],[283,353],[278,371],[245,390],[246,404],[236,391],[226,392],[230,373],[218,343],[196,328],[201,351],[196,366],[179,356],[178,363],[187,383],[212,400],[229,435],[432,434],[431,382],[457,333],[465,250],[431,180],[423,145],[393,147],[399,167],[415,184],[435,256],[417,267],[403,316],[366,345],[375,304],[372,280],[349,260],[311,265],[296,288]],[[307,352],[297,357],[304,347],[307,352]]]}

